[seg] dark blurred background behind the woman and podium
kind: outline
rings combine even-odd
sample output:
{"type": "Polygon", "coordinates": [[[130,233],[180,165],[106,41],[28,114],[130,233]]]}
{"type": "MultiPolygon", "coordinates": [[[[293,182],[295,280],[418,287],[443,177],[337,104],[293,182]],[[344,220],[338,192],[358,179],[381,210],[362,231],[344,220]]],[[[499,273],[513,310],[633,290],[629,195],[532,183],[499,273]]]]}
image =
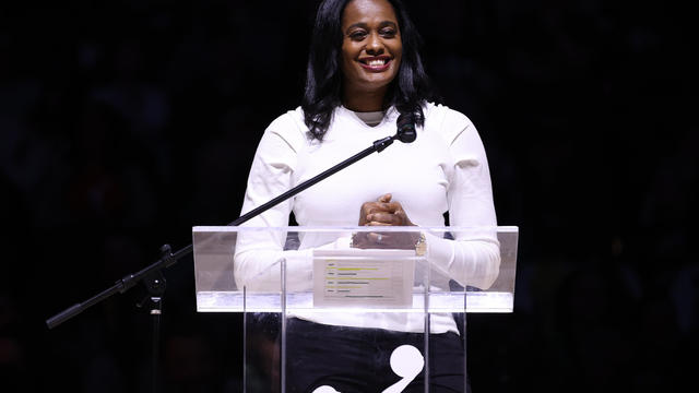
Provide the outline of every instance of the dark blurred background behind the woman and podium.
{"type": "MultiPolygon", "coordinates": [[[[0,391],[149,391],[142,287],[45,321],[238,216],[259,138],[300,103],[316,3],[0,5],[0,391]]],[[[469,317],[474,391],[696,384],[691,14],[408,4],[484,140],[498,222],[521,233],[514,312],[469,317]]],[[[238,392],[240,315],[194,311],[191,258],[166,276],[165,388],[238,392]]]]}

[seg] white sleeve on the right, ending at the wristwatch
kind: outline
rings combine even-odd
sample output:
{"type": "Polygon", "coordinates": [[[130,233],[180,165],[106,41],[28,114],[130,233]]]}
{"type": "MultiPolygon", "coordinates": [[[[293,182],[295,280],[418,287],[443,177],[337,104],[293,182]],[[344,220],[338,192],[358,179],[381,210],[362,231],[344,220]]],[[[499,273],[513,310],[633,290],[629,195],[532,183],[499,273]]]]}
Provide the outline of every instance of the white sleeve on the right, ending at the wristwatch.
{"type": "Polygon", "coordinates": [[[451,168],[447,198],[454,240],[430,236],[430,262],[465,286],[489,288],[500,267],[500,245],[493,203],[490,171],[483,142],[462,114],[448,110],[440,131],[448,144],[451,168]]]}

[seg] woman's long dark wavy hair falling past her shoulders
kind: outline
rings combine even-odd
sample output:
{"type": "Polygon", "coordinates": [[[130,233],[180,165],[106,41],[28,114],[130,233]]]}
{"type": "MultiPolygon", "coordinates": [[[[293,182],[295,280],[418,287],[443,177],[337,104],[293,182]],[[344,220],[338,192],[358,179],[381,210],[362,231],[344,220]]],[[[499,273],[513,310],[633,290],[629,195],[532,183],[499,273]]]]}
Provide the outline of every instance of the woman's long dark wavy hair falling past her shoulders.
{"type": "MultiPolygon", "coordinates": [[[[342,13],[350,1],[324,0],[316,14],[301,108],[310,138],[319,141],[330,127],[333,110],[342,104],[342,13]]],[[[437,99],[419,56],[423,40],[405,5],[400,0],[388,1],[398,17],[403,55],[384,105],[395,106],[400,114],[413,114],[415,123],[423,126],[423,106],[427,100],[437,99]]]]}

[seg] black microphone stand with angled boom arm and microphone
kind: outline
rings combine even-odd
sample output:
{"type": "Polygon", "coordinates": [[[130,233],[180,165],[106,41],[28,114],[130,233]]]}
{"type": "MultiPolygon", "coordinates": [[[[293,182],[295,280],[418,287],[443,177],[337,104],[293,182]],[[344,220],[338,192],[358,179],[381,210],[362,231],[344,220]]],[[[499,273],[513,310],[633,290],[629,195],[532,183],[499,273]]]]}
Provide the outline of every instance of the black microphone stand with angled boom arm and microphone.
{"type": "MultiPolygon", "coordinates": [[[[240,217],[238,217],[236,221],[232,222],[230,224],[228,224],[227,226],[237,226],[240,225],[247,221],[249,221],[250,218],[261,214],[262,212],[269,210],[270,207],[273,207],[275,205],[277,205],[279,203],[296,195],[297,193],[306,190],[307,188],[316,184],[317,182],[328,178],[329,176],[334,175],[335,172],[346,168],[347,166],[358,162],[359,159],[370,155],[374,152],[380,153],[382,152],[386,147],[388,147],[389,145],[391,145],[393,143],[394,140],[400,140],[402,142],[405,143],[410,143],[413,142],[415,140],[415,130],[414,130],[414,126],[411,127],[406,127],[405,123],[401,123],[401,118],[399,117],[399,129],[398,132],[395,133],[395,135],[393,136],[387,136],[383,138],[381,140],[377,140],[372,143],[371,146],[365,148],[364,151],[355,154],[354,156],[343,160],[342,163],[331,167],[330,169],[327,169],[325,171],[301,182],[300,184],[292,188],[291,190],[282,193],[281,195],[274,198],[273,200],[258,206],[257,209],[251,210],[250,212],[241,215],[240,217]]],[[[46,324],[48,325],[49,329],[54,329],[56,326],[58,326],[59,324],[68,321],[69,319],[78,315],[79,313],[83,312],[84,310],[86,310],[87,308],[103,301],[104,299],[115,295],[116,293],[126,293],[127,290],[129,290],[131,287],[133,287],[137,283],[139,282],[143,282],[144,285],[146,286],[146,288],[149,289],[150,296],[146,296],[146,298],[144,298],[143,301],[141,301],[140,303],[138,303],[138,307],[143,307],[143,303],[147,300],[147,298],[150,297],[150,302],[151,302],[151,315],[153,315],[153,362],[152,362],[152,367],[153,367],[153,392],[157,392],[158,390],[158,385],[157,385],[157,358],[158,358],[158,353],[157,353],[157,348],[158,348],[158,336],[159,336],[159,322],[161,322],[161,315],[162,315],[162,306],[163,306],[163,299],[164,299],[164,295],[165,295],[165,287],[166,287],[166,283],[165,283],[165,277],[163,276],[163,270],[166,267],[171,266],[173,264],[175,264],[178,260],[180,260],[182,257],[191,253],[193,250],[193,246],[190,243],[189,246],[176,251],[176,252],[171,252],[171,248],[169,245],[164,245],[163,247],[161,247],[161,252],[162,252],[162,258],[146,266],[145,269],[137,272],[137,273],[132,273],[132,274],[128,274],[125,277],[122,277],[121,279],[117,281],[115,285],[112,285],[111,287],[103,290],[102,293],[93,296],[92,298],[87,299],[86,301],[82,302],[82,303],[76,303],[73,305],[71,307],[69,307],[68,309],[59,312],[58,314],[49,318],[48,320],[46,320],[46,324]]]]}

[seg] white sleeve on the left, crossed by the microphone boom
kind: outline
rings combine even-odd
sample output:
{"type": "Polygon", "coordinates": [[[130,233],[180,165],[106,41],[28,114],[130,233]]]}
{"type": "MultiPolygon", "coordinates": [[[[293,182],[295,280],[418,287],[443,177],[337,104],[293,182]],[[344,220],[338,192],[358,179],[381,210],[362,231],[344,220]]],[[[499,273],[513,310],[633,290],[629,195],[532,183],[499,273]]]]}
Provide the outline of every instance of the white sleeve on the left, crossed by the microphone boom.
{"type": "MultiPolygon", "coordinates": [[[[273,121],[258,145],[242,203],[242,214],[266,203],[293,187],[303,133],[289,115],[273,121]]],[[[285,227],[293,199],[244,223],[245,227],[285,227]]],[[[284,251],[285,231],[241,230],[234,252],[234,278],[239,289],[280,288],[281,262],[286,262],[287,285],[305,287],[311,282],[311,250],[284,251]]]]}

